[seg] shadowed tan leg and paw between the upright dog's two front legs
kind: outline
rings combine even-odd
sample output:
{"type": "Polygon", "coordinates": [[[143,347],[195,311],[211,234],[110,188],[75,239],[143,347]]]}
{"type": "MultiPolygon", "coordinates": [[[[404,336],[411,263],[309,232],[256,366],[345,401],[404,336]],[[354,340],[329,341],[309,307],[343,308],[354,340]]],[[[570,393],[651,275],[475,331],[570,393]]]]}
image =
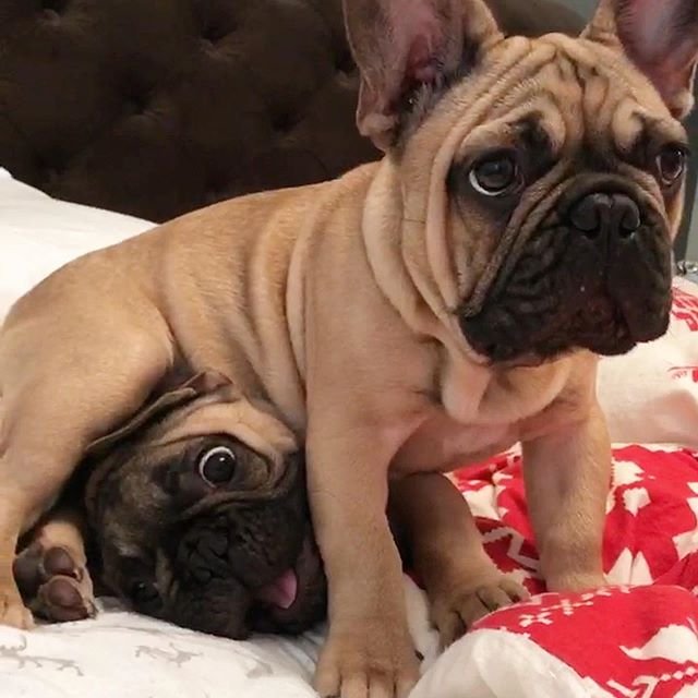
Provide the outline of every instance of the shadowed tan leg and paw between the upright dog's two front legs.
{"type": "Polygon", "coordinates": [[[528,599],[482,546],[468,503],[444,476],[414,474],[390,483],[390,522],[429,597],[443,647],[492,611],[528,599]]]}

